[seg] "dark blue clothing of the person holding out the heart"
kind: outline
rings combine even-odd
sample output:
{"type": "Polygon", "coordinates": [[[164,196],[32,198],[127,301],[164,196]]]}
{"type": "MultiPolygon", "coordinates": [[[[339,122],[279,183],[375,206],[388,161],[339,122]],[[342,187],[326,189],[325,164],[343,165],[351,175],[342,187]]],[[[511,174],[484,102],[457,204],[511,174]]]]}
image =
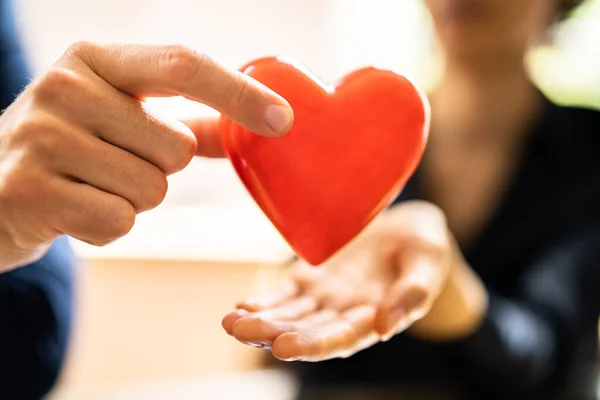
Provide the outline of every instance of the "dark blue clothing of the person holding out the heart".
{"type": "MultiPolygon", "coordinates": [[[[0,0],[0,110],[31,76],[9,6],[0,0]]],[[[0,399],[39,399],[56,382],[71,330],[74,265],[61,238],[38,262],[0,274],[0,399]]]]}

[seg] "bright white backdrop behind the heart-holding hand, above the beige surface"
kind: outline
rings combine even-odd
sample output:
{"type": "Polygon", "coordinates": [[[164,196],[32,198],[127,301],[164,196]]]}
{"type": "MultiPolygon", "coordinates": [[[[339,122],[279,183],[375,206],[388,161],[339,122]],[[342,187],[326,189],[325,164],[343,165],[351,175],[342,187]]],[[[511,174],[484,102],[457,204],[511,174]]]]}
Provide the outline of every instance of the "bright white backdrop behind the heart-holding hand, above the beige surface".
{"type": "MultiPolygon", "coordinates": [[[[36,71],[68,45],[181,43],[237,68],[284,54],[326,81],[364,65],[409,73],[427,54],[427,20],[414,1],[360,0],[21,0],[20,24],[36,71]],[[416,39],[416,40],[415,40],[416,39]],[[425,49],[425,50],[424,50],[425,49]]],[[[175,116],[211,113],[197,104],[153,101],[175,116]]],[[[272,261],[289,249],[247,196],[226,161],[195,160],[171,178],[165,202],[138,218],[129,236],[85,256],[272,261]],[[182,206],[191,207],[182,209],[182,206]],[[235,207],[234,207],[235,206],[235,207]]]]}

